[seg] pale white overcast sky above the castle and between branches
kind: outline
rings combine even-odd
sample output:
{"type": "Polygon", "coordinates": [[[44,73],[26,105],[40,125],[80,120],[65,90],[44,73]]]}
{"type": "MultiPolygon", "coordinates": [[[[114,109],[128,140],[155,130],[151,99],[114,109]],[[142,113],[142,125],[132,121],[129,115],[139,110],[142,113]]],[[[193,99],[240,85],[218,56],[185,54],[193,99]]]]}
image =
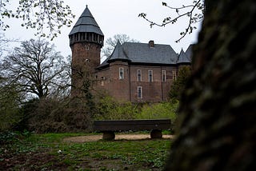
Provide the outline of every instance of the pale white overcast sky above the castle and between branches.
{"type": "MultiPolygon", "coordinates": [[[[197,42],[198,31],[188,34],[181,42],[176,43],[175,40],[180,38],[182,32],[187,26],[188,18],[181,20],[174,25],[165,27],[153,26],[142,18],[138,18],[138,14],[146,13],[147,17],[154,20],[154,22],[162,22],[163,18],[172,16],[171,10],[162,6],[162,0],[64,0],[66,5],[70,6],[73,14],[76,17],[73,19],[75,22],[85,10],[88,5],[91,14],[93,14],[98,26],[100,26],[105,40],[113,37],[114,34],[127,34],[130,38],[134,38],[139,42],[149,42],[154,40],[156,44],[167,44],[179,53],[180,50],[186,50],[187,47],[194,42],[197,42]]],[[[182,6],[193,0],[166,0],[170,6],[182,6]]],[[[35,30],[26,30],[20,26],[18,20],[10,23],[11,28],[5,32],[7,38],[18,38],[22,41],[34,38],[35,30]]],[[[198,25],[198,27],[200,27],[198,25]]],[[[55,38],[53,43],[56,50],[60,51],[62,56],[71,54],[69,46],[68,34],[72,27],[63,27],[62,34],[55,38]]]]}

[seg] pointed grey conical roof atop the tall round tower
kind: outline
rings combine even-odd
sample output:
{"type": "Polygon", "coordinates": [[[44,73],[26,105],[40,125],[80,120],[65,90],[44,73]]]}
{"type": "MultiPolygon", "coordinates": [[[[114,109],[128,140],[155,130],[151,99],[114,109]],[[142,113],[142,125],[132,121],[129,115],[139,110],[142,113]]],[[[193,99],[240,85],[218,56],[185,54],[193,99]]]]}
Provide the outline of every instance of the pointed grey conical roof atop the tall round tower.
{"type": "Polygon", "coordinates": [[[75,23],[69,35],[76,34],[76,33],[85,33],[85,32],[100,34],[104,36],[102,33],[102,30],[99,28],[93,15],[90,13],[88,6],[86,6],[86,9],[83,11],[80,18],[78,18],[78,22],[75,23]]]}

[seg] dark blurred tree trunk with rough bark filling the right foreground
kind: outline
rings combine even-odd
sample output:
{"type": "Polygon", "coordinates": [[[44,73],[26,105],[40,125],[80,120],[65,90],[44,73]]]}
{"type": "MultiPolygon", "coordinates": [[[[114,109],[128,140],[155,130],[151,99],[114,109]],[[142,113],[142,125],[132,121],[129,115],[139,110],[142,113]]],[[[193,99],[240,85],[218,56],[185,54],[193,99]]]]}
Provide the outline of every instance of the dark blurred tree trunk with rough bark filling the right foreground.
{"type": "Polygon", "coordinates": [[[208,1],[166,170],[255,170],[256,2],[208,1]]]}

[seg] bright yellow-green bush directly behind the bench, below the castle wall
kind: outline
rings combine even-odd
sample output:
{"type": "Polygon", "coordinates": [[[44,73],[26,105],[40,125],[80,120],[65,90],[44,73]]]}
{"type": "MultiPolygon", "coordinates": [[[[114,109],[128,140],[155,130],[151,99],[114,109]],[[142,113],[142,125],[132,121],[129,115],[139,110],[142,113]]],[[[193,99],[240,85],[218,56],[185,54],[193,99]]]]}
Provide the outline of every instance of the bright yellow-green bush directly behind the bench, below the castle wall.
{"type": "Polygon", "coordinates": [[[96,106],[94,120],[126,120],[126,119],[161,119],[170,118],[172,124],[176,120],[178,101],[154,104],[132,104],[119,102],[113,97],[102,97],[96,106]]]}

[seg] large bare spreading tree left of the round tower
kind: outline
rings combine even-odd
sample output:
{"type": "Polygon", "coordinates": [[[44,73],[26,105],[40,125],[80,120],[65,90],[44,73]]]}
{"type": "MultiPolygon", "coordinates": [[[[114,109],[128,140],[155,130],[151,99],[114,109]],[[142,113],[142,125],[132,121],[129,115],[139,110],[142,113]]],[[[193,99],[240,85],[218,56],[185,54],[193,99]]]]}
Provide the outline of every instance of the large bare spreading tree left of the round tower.
{"type": "Polygon", "coordinates": [[[54,45],[44,40],[22,42],[2,62],[1,74],[20,91],[46,97],[70,85],[69,65],[54,45]]]}

